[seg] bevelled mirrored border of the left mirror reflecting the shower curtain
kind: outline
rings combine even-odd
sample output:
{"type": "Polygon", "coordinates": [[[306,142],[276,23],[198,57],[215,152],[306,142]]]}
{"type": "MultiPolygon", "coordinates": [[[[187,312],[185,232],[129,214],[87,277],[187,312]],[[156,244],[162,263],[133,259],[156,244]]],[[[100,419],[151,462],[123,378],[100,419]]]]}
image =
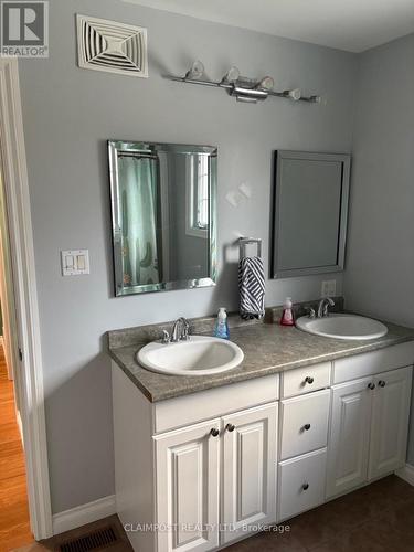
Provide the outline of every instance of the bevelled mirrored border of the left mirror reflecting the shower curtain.
{"type": "MultiPolygon", "coordinates": [[[[114,265],[114,286],[115,296],[125,297],[136,294],[147,294],[152,291],[170,291],[172,289],[192,289],[197,287],[215,286],[217,278],[217,178],[209,179],[209,274],[205,278],[182,279],[172,282],[160,282],[159,284],[146,284],[142,286],[124,287],[123,276],[117,273],[117,263],[121,263],[119,244],[119,219],[118,219],[118,151],[134,152],[153,152],[167,151],[168,147],[174,148],[174,151],[181,155],[204,153],[210,157],[217,157],[217,147],[214,146],[192,146],[185,144],[162,144],[149,141],[127,141],[108,140],[108,161],[109,161],[109,182],[110,182],[110,215],[113,233],[113,265],[114,265]]],[[[184,199],[183,199],[184,201],[184,199]]]]}

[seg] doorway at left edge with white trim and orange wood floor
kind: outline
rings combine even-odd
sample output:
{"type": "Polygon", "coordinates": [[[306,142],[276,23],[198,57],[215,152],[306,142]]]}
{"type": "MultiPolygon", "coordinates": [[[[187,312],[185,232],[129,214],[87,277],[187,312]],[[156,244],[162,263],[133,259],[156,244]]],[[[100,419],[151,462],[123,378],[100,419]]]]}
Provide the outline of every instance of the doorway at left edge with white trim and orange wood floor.
{"type": "Polygon", "coordinates": [[[1,56],[0,302],[3,320],[0,552],[3,552],[50,537],[52,512],[19,68],[17,59],[1,56]]]}

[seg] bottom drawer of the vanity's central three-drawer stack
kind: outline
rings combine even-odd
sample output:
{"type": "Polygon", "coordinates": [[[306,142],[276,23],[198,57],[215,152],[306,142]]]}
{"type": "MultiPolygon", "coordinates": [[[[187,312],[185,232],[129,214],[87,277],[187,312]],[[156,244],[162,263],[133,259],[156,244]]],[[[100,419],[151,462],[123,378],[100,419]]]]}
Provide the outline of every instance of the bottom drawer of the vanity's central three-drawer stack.
{"type": "Polygon", "coordinates": [[[326,448],[279,464],[279,520],[325,501],[326,465],[326,448]]]}

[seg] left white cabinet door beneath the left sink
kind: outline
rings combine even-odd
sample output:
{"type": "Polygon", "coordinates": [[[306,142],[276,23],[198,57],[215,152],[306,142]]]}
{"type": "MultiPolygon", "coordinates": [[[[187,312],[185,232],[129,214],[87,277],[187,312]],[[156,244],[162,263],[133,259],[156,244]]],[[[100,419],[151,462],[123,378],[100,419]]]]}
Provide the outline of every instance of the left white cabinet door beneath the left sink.
{"type": "MultiPolygon", "coordinates": [[[[158,552],[219,545],[220,418],[153,437],[158,552]]],[[[145,477],[145,476],[144,476],[145,477]]]]}

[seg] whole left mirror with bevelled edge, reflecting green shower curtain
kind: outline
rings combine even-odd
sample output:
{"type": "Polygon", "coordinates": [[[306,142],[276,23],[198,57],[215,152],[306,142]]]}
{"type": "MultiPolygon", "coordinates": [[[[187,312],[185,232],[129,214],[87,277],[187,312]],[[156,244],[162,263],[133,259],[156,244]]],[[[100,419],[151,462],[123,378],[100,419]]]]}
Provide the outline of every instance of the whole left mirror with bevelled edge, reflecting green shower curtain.
{"type": "Polygon", "coordinates": [[[212,286],[217,148],[108,141],[117,296],[212,286]]]}

